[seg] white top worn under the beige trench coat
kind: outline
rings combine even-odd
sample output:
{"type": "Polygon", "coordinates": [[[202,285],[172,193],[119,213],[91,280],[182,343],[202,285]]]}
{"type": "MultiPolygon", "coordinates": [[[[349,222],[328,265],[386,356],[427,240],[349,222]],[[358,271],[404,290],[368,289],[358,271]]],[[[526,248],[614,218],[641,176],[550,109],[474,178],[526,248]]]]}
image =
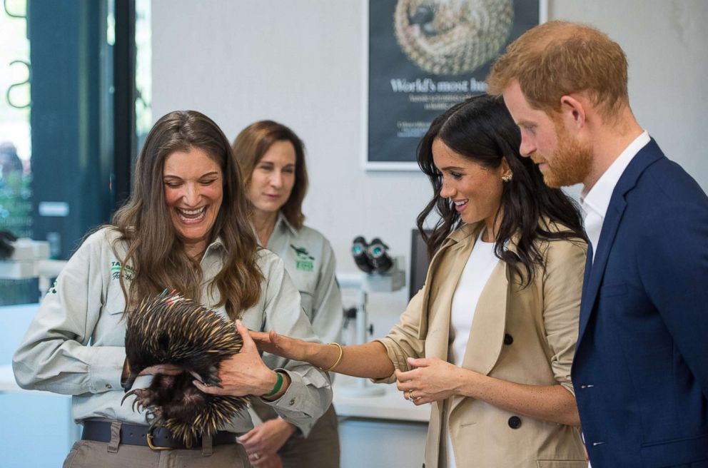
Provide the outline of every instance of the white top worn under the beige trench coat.
{"type": "MultiPolygon", "coordinates": [[[[482,230],[482,233],[484,231],[482,230]]],[[[492,275],[492,270],[499,261],[499,258],[494,255],[494,243],[484,242],[480,234],[474,248],[472,248],[470,258],[467,259],[465,269],[462,270],[455,294],[452,295],[450,336],[453,338],[452,345],[450,345],[450,362],[456,366],[462,366],[467,342],[470,340],[470,329],[475,317],[477,302],[479,302],[482,290],[492,275]]],[[[447,467],[449,468],[457,468],[454,453],[452,439],[450,434],[447,434],[447,467]]]]}

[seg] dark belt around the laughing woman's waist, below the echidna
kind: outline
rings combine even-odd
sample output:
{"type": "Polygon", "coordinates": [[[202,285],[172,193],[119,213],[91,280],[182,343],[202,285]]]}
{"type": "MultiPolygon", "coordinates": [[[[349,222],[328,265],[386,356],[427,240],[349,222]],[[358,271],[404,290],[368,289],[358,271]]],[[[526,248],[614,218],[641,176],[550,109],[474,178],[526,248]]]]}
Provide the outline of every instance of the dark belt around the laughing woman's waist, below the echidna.
{"type": "MultiPolygon", "coordinates": [[[[213,445],[236,444],[236,435],[233,432],[218,431],[211,438],[213,445]]],[[[96,442],[111,442],[111,422],[110,421],[84,421],[84,432],[81,434],[82,440],[94,440],[96,442]]],[[[149,426],[141,424],[121,424],[121,444],[141,445],[151,449],[186,449],[182,439],[172,437],[170,431],[164,427],[155,427],[152,430],[149,426]]],[[[201,439],[193,442],[193,449],[201,449],[201,439]]]]}

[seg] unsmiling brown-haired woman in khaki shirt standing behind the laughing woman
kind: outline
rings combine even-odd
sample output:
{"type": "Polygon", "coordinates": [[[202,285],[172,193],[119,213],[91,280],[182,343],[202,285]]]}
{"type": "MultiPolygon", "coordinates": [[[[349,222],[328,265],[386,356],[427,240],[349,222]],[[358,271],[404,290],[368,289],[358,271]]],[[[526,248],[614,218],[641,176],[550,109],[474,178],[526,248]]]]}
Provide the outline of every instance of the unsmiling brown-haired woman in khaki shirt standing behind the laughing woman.
{"type": "MultiPolygon", "coordinates": [[[[324,235],[303,223],[302,205],[308,189],[303,142],[281,123],[258,121],[233,141],[233,156],[253,205],[251,220],[258,240],[283,259],[320,340],[339,341],[343,313],[334,251],[324,235]]],[[[253,410],[263,424],[239,441],[254,467],[339,468],[339,431],[332,405],[308,437],[268,405],[253,402],[253,410]]]]}

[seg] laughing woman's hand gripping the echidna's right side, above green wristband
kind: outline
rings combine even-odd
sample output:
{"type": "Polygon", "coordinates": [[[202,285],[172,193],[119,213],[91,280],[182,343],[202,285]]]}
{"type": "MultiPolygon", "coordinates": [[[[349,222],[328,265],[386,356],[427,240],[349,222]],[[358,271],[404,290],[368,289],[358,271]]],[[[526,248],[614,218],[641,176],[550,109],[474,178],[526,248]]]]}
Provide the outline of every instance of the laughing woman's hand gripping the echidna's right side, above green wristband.
{"type": "MultiPolygon", "coordinates": [[[[278,381],[278,376],[261,359],[256,343],[251,339],[251,335],[248,334],[248,328],[243,326],[241,320],[236,320],[236,330],[243,338],[243,346],[241,347],[241,352],[221,362],[219,368],[221,387],[204,385],[198,380],[194,380],[193,383],[202,392],[211,393],[212,395],[231,395],[234,397],[265,395],[273,390],[275,382],[278,381]]],[[[284,382],[283,387],[287,387],[287,383],[284,382]]]]}

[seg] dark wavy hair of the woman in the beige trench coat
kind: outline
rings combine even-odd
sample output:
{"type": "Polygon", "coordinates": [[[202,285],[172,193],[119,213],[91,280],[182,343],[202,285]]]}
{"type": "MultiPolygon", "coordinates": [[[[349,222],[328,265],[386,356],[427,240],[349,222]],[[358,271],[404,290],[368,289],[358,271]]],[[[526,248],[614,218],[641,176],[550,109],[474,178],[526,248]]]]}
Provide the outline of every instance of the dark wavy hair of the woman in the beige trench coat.
{"type": "Polygon", "coordinates": [[[521,134],[502,99],[482,94],[455,104],[435,118],[418,144],[418,166],[430,178],[434,193],[417,219],[430,257],[447,235],[462,224],[452,201],[440,196],[442,174],[433,162],[436,138],[455,153],[485,168],[498,168],[506,159],[513,177],[503,185],[500,212],[497,212],[497,216],[501,213],[502,220],[495,238],[495,255],[525,278],[524,287],[533,280],[534,266],[543,263],[535,240],[575,238],[587,242],[575,200],[543,183],[543,176],[531,158],[519,154],[521,134]],[[428,233],[424,229],[425,220],[433,210],[438,212],[440,220],[428,233]],[[567,229],[552,228],[543,218],[567,229]],[[512,253],[505,245],[517,233],[520,235],[517,253],[512,253]]]}

